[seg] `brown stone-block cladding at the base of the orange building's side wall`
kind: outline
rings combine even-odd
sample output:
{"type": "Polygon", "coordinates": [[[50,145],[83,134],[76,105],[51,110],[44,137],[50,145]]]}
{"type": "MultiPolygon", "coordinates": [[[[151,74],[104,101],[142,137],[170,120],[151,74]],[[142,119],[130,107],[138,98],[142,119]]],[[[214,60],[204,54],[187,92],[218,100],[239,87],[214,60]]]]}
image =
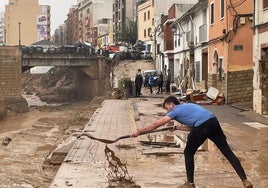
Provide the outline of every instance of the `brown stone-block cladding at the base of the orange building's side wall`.
{"type": "Polygon", "coordinates": [[[253,70],[228,72],[227,103],[253,100],[253,70]]]}

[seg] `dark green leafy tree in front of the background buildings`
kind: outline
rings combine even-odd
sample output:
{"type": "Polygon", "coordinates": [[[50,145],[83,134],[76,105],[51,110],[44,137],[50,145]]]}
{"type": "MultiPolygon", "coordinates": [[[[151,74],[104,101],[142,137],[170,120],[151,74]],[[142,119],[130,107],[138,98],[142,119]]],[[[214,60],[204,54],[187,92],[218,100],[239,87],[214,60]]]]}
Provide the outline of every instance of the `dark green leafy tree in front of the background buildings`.
{"type": "Polygon", "coordinates": [[[133,45],[137,41],[137,35],[137,22],[127,18],[127,23],[122,25],[122,30],[118,33],[117,41],[133,45]]]}

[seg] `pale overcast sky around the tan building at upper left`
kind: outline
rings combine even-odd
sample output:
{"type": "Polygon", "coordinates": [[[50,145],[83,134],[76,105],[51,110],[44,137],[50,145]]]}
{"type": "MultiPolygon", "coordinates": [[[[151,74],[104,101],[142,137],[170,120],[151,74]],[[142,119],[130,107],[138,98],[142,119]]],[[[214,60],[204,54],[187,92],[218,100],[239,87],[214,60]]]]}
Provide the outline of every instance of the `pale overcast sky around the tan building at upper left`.
{"type": "MultiPolygon", "coordinates": [[[[5,11],[8,0],[0,0],[0,12],[5,11]]],[[[51,7],[51,34],[67,19],[67,13],[72,5],[76,5],[77,0],[39,0],[39,5],[50,5],[51,7]]]]}

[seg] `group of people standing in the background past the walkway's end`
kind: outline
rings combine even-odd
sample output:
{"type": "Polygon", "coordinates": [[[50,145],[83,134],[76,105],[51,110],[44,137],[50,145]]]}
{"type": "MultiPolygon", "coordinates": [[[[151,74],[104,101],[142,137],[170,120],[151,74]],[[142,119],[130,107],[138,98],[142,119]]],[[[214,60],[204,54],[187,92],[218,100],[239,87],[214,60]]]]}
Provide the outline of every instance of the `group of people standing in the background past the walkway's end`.
{"type": "MultiPolygon", "coordinates": [[[[138,69],[138,72],[136,74],[135,77],[135,97],[140,97],[141,95],[141,88],[142,88],[142,84],[144,83],[145,87],[149,87],[150,88],[150,93],[153,93],[153,86],[157,85],[158,90],[157,90],[157,94],[162,94],[163,93],[163,84],[164,84],[164,75],[162,73],[162,71],[160,71],[159,77],[155,80],[153,75],[151,73],[149,73],[149,75],[146,75],[147,77],[145,78],[145,80],[143,80],[143,76],[141,73],[141,69],[138,69]],[[156,84],[155,84],[156,82],[156,84]]],[[[168,69],[167,71],[167,76],[166,76],[166,92],[170,93],[170,83],[171,83],[171,74],[170,74],[170,70],[168,69]]]]}

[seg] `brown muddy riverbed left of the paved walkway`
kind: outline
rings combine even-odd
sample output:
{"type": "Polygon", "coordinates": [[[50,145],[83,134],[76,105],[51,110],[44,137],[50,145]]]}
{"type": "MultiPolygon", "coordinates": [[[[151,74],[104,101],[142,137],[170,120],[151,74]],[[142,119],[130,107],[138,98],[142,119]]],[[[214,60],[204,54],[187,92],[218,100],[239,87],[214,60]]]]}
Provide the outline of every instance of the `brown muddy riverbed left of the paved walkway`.
{"type": "Polygon", "coordinates": [[[49,187],[59,168],[50,164],[51,152],[84,127],[103,98],[47,104],[24,97],[29,111],[8,112],[0,122],[0,187],[49,187]]]}

